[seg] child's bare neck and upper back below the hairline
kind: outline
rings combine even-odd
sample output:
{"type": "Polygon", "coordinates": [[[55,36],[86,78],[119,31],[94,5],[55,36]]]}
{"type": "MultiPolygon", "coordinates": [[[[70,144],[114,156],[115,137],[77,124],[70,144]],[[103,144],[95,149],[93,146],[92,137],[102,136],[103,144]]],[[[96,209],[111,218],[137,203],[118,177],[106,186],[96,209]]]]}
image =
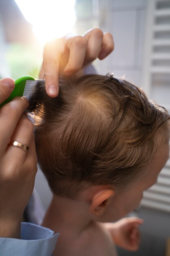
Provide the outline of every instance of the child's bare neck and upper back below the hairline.
{"type": "Polygon", "coordinates": [[[95,221],[86,201],[53,196],[42,226],[59,232],[54,256],[113,256],[108,232],[95,221]]]}

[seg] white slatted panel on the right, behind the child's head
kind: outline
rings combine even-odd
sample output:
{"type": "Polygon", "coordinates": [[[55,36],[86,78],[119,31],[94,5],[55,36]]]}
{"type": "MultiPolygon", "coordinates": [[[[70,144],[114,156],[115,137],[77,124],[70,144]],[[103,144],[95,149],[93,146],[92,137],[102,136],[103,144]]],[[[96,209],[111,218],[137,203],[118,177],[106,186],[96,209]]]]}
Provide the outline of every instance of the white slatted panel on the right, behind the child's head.
{"type": "MultiPolygon", "coordinates": [[[[143,89],[170,112],[170,0],[150,0],[146,16],[143,89]]],[[[141,205],[170,212],[170,158],[141,205]]]]}

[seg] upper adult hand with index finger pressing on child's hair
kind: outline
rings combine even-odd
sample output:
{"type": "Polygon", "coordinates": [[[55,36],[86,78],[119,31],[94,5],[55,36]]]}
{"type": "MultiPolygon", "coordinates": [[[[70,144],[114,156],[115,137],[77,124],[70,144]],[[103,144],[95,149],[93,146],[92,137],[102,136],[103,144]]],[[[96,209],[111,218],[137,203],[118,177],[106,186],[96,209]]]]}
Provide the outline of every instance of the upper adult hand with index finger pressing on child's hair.
{"type": "Polygon", "coordinates": [[[59,76],[72,76],[97,57],[102,60],[114,49],[113,37],[100,29],[91,29],[83,36],[67,35],[46,43],[40,79],[46,81],[46,92],[56,97],[59,76]]]}

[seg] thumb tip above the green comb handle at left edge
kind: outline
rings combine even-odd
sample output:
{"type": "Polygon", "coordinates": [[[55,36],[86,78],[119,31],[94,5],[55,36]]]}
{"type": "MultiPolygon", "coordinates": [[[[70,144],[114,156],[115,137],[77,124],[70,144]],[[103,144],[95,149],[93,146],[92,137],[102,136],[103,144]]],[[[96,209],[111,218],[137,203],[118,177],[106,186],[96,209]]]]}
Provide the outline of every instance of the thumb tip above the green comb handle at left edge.
{"type": "Polygon", "coordinates": [[[0,80],[0,104],[10,96],[14,87],[15,82],[13,79],[5,78],[0,80]]]}

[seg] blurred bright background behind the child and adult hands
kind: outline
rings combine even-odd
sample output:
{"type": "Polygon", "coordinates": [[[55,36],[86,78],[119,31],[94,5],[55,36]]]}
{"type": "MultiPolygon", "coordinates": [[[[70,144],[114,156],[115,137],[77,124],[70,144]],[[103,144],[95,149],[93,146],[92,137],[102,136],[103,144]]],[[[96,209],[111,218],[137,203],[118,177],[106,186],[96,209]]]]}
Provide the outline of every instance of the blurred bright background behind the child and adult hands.
{"type": "MultiPolygon", "coordinates": [[[[125,76],[170,110],[170,0],[0,0],[0,78],[38,78],[47,40],[96,27],[115,41],[97,72],[125,76]]],[[[40,170],[35,187],[46,209],[51,192],[40,170]]],[[[141,249],[119,255],[170,255],[170,160],[132,214],[145,220],[141,249]]]]}

